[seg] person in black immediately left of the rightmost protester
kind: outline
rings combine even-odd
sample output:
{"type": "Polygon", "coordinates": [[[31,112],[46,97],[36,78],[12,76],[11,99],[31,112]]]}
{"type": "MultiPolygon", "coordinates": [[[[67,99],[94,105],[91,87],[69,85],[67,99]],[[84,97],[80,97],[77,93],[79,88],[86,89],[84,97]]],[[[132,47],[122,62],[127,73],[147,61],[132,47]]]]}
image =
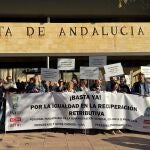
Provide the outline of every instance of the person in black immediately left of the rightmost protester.
{"type": "Polygon", "coordinates": [[[120,77],[119,92],[128,94],[131,93],[128,85],[126,84],[126,79],[124,75],[120,77]]]}

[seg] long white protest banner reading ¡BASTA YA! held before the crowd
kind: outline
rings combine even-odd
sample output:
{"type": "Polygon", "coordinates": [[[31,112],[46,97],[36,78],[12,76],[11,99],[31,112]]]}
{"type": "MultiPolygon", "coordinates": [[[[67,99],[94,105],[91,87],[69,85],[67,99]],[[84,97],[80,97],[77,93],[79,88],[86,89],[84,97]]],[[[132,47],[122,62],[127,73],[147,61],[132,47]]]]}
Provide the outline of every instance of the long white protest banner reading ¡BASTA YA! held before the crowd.
{"type": "Polygon", "coordinates": [[[78,92],[11,94],[6,131],[73,128],[150,132],[150,97],[78,92]]]}

